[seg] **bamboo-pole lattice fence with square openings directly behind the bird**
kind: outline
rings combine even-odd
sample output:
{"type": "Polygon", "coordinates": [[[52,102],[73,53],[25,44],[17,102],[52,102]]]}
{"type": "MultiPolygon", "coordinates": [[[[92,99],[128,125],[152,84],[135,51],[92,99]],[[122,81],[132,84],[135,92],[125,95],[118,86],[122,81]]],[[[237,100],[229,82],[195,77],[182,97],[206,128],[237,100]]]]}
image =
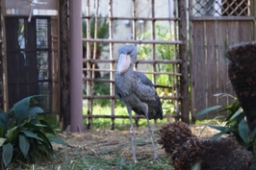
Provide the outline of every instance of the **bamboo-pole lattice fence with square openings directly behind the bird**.
{"type": "MultiPolygon", "coordinates": [[[[149,57],[141,59],[139,52],[139,60],[136,62],[137,70],[151,77],[153,84],[159,91],[169,93],[169,95],[162,94],[161,96],[162,101],[171,101],[174,107],[174,111],[166,112],[166,116],[170,114],[176,119],[182,118],[184,121],[189,122],[189,103],[186,104],[188,101],[186,3],[154,0],[141,3],[133,0],[126,2],[126,9],[129,9],[128,12],[118,10],[118,8],[122,7],[120,1],[110,0],[97,3],[98,1],[87,1],[84,4],[86,13],[83,16],[87,26],[87,34],[83,41],[86,44],[84,59],[86,92],[84,99],[88,112],[84,117],[88,119],[88,127],[90,128],[91,126],[92,118],[111,118],[112,129],[115,127],[115,118],[129,118],[128,115],[118,115],[115,112],[117,97],[115,96],[114,77],[115,63],[118,57],[117,49],[125,43],[137,44],[139,51],[142,47],[148,45],[148,49],[151,51],[147,54],[149,57]],[[148,7],[148,13],[141,11],[143,6],[148,7]],[[104,12],[107,15],[104,15],[104,12]],[[91,36],[91,28],[98,27],[97,24],[91,25],[91,23],[98,23],[98,20],[104,18],[108,20],[109,36],[97,37],[96,31],[91,36]],[[160,39],[159,35],[157,35],[159,33],[157,29],[163,28],[159,27],[159,25],[165,27],[166,34],[171,36],[166,39],[160,39]],[[119,30],[116,27],[119,27],[119,30]],[[126,31],[125,34],[116,33],[121,32],[120,30],[123,32],[129,30],[129,32],[126,31]],[[142,38],[143,32],[148,33],[149,36],[142,38]],[[160,57],[161,51],[158,49],[161,45],[165,45],[167,49],[173,51],[171,54],[166,53],[167,59],[160,57]],[[97,48],[100,48],[100,46],[104,46],[104,49],[107,49],[105,58],[104,54],[97,56],[97,48]],[[98,66],[100,64],[105,65],[105,67],[98,66]],[[161,69],[165,65],[171,65],[169,70],[161,69]],[[98,76],[98,73],[101,76],[98,76]],[[158,80],[163,75],[171,81],[167,84],[160,84],[158,80]],[[109,86],[109,92],[97,94],[95,85],[99,84],[109,86]],[[109,105],[111,106],[110,114],[98,115],[97,112],[94,112],[95,100],[109,100],[109,105]]],[[[134,116],[134,118],[138,124],[139,118],[142,117],[134,116]]]]}

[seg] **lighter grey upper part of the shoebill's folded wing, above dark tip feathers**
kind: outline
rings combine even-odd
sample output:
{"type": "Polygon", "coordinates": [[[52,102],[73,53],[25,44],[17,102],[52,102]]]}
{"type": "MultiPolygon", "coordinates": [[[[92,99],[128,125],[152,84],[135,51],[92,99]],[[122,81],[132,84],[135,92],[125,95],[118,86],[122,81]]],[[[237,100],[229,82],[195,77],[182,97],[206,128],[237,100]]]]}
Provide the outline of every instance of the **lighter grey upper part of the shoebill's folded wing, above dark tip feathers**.
{"type": "Polygon", "coordinates": [[[135,72],[136,85],[134,87],[136,95],[141,101],[156,101],[157,93],[151,81],[142,73],[135,72]]]}

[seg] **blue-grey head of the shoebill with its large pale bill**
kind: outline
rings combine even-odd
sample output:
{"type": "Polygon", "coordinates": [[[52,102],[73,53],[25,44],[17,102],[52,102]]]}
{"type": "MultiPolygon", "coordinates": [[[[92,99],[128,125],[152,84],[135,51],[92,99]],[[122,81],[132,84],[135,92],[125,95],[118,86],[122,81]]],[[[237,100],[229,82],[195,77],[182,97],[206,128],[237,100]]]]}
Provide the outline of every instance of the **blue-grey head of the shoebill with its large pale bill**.
{"type": "Polygon", "coordinates": [[[119,58],[117,63],[117,74],[125,73],[128,68],[132,67],[137,60],[137,48],[135,45],[124,45],[119,50],[119,58]]]}

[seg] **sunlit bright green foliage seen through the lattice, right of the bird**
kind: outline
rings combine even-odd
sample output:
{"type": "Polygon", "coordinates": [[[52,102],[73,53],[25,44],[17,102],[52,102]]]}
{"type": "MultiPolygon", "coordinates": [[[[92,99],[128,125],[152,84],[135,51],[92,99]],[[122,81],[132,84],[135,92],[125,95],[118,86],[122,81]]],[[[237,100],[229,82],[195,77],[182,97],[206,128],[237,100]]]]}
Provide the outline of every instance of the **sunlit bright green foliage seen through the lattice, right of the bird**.
{"type": "MultiPolygon", "coordinates": [[[[145,32],[140,35],[140,38],[147,38],[151,36],[150,32],[145,32]]],[[[174,35],[171,35],[171,32],[162,25],[156,25],[156,39],[161,40],[172,40],[174,35]]],[[[177,47],[175,45],[169,44],[157,44],[156,45],[156,59],[163,60],[163,61],[171,61],[175,60],[175,50],[177,47]]],[[[152,45],[151,44],[141,44],[140,48],[138,49],[138,59],[142,60],[150,60],[152,57],[152,45]]],[[[147,68],[148,71],[152,71],[151,67],[147,68]]],[[[157,64],[157,71],[158,72],[166,72],[166,73],[175,73],[175,65],[174,64],[157,64]]],[[[153,75],[147,75],[147,77],[152,81],[153,75]]],[[[168,74],[160,74],[156,77],[156,84],[157,85],[168,85],[173,86],[175,84],[176,78],[172,75],[168,74]]],[[[170,89],[158,89],[158,93],[162,97],[171,96],[174,91],[170,89]]],[[[174,111],[174,104],[172,100],[164,100],[162,101],[163,112],[166,113],[173,113],[174,111]]]]}

